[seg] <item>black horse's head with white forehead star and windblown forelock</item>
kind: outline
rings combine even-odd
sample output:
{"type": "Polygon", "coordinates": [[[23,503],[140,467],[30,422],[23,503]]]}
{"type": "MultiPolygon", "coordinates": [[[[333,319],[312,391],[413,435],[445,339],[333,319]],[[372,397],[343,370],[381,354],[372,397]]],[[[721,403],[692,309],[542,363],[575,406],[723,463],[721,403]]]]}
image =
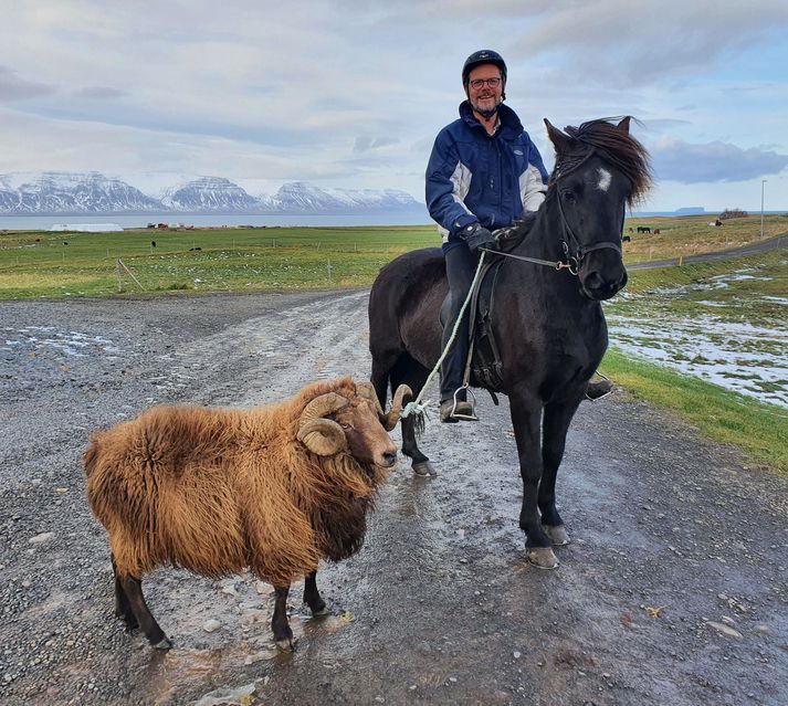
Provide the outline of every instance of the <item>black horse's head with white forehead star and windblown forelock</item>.
{"type": "Polygon", "coordinates": [[[629,122],[591,120],[561,133],[545,118],[556,148],[548,201],[557,204],[565,254],[576,261],[580,291],[590,299],[609,299],[627,284],[624,211],[651,185],[649,155],[629,134],[629,122]]]}

